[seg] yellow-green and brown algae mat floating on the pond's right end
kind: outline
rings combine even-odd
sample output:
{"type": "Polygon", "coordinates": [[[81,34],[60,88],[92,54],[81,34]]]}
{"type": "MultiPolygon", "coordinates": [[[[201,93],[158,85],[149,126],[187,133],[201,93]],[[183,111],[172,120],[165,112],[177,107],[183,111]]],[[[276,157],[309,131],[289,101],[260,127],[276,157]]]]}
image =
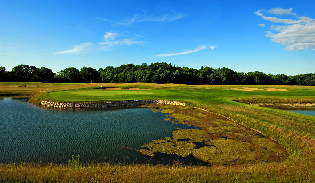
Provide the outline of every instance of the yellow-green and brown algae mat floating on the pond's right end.
{"type": "Polygon", "coordinates": [[[275,162],[287,158],[283,147],[272,139],[236,122],[187,106],[142,105],[165,113],[165,120],[194,126],[178,129],[172,136],[152,140],[140,152],[193,156],[210,164],[252,164],[275,162]]]}

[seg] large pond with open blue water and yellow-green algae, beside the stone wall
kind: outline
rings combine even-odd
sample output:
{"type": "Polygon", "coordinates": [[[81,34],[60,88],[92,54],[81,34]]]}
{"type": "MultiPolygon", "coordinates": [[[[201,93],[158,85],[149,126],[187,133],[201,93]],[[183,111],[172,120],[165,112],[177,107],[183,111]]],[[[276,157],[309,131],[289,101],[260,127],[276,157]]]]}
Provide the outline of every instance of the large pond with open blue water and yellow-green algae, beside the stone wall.
{"type": "Polygon", "coordinates": [[[287,157],[266,136],[195,108],[42,108],[28,99],[0,97],[0,162],[66,163],[80,155],[83,162],[247,164],[287,157]]]}

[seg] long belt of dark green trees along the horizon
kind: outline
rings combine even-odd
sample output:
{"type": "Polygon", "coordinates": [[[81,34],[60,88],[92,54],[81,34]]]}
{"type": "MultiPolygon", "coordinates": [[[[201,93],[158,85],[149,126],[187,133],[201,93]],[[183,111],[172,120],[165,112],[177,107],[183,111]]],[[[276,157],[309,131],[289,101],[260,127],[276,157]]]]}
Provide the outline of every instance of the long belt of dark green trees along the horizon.
{"type": "Polygon", "coordinates": [[[178,67],[166,62],[144,63],[142,65],[123,64],[108,66],[98,70],[69,67],[57,74],[46,67],[36,68],[18,65],[12,71],[0,66],[0,81],[38,81],[54,83],[178,83],[215,85],[308,85],[315,86],[315,73],[302,75],[272,75],[263,72],[236,72],[228,68],[213,69],[203,67],[192,69],[178,67]]]}

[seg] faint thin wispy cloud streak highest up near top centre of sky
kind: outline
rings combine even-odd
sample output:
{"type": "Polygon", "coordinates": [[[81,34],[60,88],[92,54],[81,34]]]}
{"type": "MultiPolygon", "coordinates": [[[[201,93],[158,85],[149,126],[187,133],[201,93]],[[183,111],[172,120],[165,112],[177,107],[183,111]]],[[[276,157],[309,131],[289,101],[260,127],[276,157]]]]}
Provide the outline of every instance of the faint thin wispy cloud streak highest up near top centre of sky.
{"type": "MultiPolygon", "coordinates": [[[[144,11],[144,10],[143,10],[144,11]]],[[[174,20],[181,19],[185,16],[185,14],[177,14],[175,11],[173,11],[171,14],[163,14],[160,16],[156,16],[155,14],[148,15],[146,11],[144,11],[144,14],[135,14],[131,17],[127,17],[126,19],[123,19],[121,21],[118,21],[114,23],[114,26],[130,26],[133,24],[137,24],[140,22],[171,22],[174,20]]]]}

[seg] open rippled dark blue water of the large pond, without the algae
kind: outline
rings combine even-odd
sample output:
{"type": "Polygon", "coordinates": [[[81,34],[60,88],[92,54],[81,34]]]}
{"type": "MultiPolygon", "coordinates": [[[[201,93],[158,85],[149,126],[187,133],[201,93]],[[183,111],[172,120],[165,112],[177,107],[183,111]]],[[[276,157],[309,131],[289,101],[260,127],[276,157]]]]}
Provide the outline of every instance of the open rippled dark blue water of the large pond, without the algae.
{"type": "Polygon", "coordinates": [[[83,161],[147,163],[152,159],[121,146],[139,149],[176,128],[194,128],[140,106],[62,110],[28,99],[0,97],[0,162],[67,162],[80,155],[83,161]]]}

